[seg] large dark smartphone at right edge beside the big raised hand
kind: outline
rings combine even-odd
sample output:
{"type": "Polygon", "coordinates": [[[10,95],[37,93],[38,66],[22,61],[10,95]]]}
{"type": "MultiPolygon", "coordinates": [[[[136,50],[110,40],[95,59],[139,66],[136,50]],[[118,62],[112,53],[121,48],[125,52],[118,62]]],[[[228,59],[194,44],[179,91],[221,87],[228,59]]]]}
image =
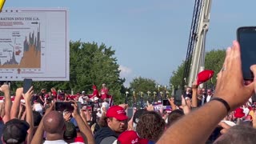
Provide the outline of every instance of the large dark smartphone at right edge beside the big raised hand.
{"type": "Polygon", "coordinates": [[[242,76],[245,80],[253,80],[250,66],[256,64],[256,26],[239,27],[237,39],[241,49],[242,76]]]}

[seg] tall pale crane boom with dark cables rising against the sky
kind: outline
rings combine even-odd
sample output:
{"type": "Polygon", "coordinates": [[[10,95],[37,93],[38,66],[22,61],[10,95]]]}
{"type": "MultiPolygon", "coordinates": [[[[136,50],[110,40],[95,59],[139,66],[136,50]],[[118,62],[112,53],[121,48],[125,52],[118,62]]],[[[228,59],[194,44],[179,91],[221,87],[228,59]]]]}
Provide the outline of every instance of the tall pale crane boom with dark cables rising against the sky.
{"type": "Polygon", "coordinates": [[[194,29],[192,30],[193,27],[191,26],[190,42],[186,54],[185,70],[183,74],[184,82],[182,82],[182,86],[185,86],[185,83],[191,86],[192,82],[197,78],[198,73],[204,70],[206,34],[210,24],[211,2],[211,0],[195,0],[195,4],[198,5],[198,18],[192,19],[194,29]],[[187,78],[188,82],[186,81],[187,78]]]}

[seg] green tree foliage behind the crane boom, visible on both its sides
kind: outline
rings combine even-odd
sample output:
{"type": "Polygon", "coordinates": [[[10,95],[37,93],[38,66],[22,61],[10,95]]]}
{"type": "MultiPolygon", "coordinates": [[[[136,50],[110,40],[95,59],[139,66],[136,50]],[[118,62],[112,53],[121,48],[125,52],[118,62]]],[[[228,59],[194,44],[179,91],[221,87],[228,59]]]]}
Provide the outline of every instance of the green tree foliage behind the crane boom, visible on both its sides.
{"type": "MultiPolygon", "coordinates": [[[[222,64],[225,59],[225,50],[210,50],[206,52],[205,70],[214,70],[214,77],[206,82],[207,88],[213,88],[216,85],[218,71],[222,69],[222,64]]],[[[170,77],[170,85],[174,85],[174,88],[178,88],[182,84],[182,77],[184,72],[184,65],[182,62],[178,66],[177,70],[174,70],[170,77]]]]}

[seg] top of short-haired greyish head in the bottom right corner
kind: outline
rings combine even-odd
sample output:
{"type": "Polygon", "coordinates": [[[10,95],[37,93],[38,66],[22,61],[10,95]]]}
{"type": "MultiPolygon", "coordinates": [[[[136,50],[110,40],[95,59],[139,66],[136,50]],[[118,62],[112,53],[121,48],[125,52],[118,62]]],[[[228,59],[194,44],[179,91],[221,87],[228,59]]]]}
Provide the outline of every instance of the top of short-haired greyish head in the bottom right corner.
{"type": "Polygon", "coordinates": [[[256,142],[256,129],[252,126],[232,126],[226,134],[222,134],[214,144],[226,143],[246,143],[254,144],[256,142]]]}

